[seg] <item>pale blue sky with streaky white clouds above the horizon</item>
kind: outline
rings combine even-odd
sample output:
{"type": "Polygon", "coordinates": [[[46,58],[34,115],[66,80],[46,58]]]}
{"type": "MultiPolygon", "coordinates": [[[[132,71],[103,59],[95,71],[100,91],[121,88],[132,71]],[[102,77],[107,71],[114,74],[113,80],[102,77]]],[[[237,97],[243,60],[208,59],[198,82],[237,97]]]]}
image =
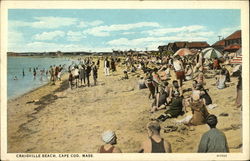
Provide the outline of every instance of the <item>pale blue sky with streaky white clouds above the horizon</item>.
{"type": "Polygon", "coordinates": [[[212,45],[239,29],[236,9],[9,9],[8,51],[158,50],[174,41],[212,45]]]}

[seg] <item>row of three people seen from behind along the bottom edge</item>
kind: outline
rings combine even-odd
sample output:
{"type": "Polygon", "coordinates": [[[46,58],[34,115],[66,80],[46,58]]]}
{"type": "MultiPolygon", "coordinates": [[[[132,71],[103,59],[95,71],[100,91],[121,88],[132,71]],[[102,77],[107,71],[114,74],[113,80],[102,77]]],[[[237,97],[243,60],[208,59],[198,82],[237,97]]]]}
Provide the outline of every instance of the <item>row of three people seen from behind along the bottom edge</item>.
{"type": "MultiPolygon", "coordinates": [[[[225,134],[216,128],[217,117],[208,115],[204,120],[210,130],[201,136],[197,147],[198,153],[229,153],[225,134]]],[[[150,121],[147,125],[148,138],[141,143],[138,153],[172,153],[171,143],[161,136],[161,126],[158,121],[150,121]]],[[[116,145],[117,136],[114,131],[108,130],[102,133],[104,142],[98,149],[98,153],[122,153],[116,145]]]]}

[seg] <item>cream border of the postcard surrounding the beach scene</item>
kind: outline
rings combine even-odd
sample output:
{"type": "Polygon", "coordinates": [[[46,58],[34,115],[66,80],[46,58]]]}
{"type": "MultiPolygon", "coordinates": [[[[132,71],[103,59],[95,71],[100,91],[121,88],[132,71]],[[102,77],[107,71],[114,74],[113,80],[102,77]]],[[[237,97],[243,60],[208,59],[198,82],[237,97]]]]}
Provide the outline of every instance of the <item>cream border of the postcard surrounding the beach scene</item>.
{"type": "MultiPolygon", "coordinates": [[[[249,2],[248,1],[1,1],[1,158],[18,159],[16,154],[7,154],[7,10],[8,9],[241,9],[243,47],[243,153],[229,153],[217,157],[217,153],[172,153],[172,154],[93,154],[93,158],[81,160],[247,160],[249,159],[249,2]]],[[[216,24],[215,24],[216,25],[216,24]]],[[[79,158],[78,158],[79,159],[79,158]]],[[[40,158],[39,160],[61,160],[40,158]]],[[[65,159],[63,159],[65,160],[65,159]]],[[[77,160],[70,158],[70,160],[77,160]]]]}

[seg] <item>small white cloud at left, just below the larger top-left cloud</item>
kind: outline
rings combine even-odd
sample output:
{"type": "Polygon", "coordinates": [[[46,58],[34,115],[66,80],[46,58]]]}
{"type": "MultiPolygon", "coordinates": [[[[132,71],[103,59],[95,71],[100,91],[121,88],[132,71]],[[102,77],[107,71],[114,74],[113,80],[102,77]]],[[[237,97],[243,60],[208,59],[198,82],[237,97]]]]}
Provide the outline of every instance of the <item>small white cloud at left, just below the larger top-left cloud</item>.
{"type": "Polygon", "coordinates": [[[64,37],[65,33],[63,31],[52,31],[52,32],[43,32],[41,34],[34,35],[35,40],[53,40],[59,37],[64,37]]]}

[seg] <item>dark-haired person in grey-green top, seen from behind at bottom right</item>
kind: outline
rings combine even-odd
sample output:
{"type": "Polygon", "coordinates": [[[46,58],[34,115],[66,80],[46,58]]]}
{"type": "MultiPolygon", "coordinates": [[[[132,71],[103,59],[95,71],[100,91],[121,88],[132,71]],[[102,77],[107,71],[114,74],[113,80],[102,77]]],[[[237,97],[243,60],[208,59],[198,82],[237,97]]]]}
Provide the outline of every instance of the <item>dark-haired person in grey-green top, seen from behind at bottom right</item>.
{"type": "Polygon", "coordinates": [[[202,135],[198,153],[229,153],[225,134],[216,128],[217,117],[209,115],[206,122],[210,130],[202,135]]]}

